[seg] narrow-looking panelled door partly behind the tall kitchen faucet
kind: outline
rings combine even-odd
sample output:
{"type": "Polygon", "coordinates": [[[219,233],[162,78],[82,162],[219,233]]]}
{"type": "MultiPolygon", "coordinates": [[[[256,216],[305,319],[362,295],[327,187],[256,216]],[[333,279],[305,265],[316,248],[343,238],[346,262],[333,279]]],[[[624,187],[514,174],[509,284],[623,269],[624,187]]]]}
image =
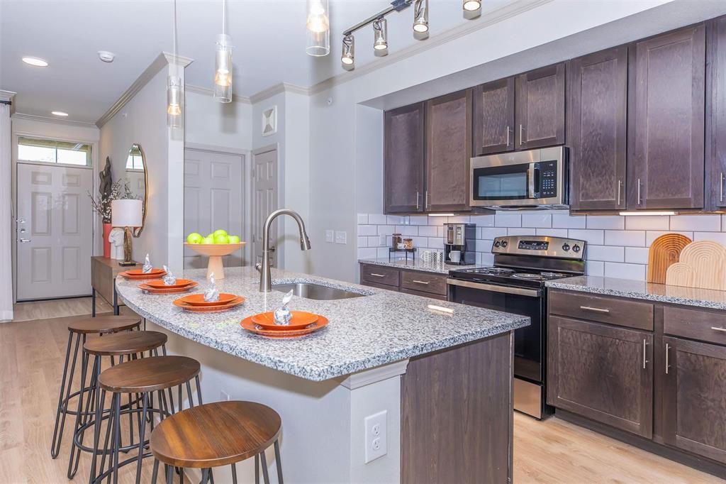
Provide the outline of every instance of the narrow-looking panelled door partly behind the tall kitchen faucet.
{"type": "MultiPolygon", "coordinates": [[[[262,227],[265,219],[277,210],[277,150],[257,153],[253,156],[252,183],[252,244],[255,262],[262,261],[262,227]]],[[[277,253],[276,220],[270,227],[270,264],[275,265],[277,253]]]]}

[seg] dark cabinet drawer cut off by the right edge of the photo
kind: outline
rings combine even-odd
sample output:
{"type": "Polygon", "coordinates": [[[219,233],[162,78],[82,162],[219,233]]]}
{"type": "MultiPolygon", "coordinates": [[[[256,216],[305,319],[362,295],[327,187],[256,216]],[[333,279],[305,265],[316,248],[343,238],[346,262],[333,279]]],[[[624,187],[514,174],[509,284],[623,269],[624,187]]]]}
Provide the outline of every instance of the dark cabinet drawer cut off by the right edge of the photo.
{"type": "Polygon", "coordinates": [[[726,344],[726,314],[666,306],[663,308],[663,332],[726,344]]]}

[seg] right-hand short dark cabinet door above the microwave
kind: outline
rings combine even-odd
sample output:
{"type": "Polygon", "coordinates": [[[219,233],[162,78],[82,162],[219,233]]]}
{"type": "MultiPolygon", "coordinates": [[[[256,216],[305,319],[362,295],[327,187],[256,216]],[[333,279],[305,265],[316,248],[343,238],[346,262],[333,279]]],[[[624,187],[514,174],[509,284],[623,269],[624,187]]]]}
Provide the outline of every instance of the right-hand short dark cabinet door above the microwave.
{"type": "Polygon", "coordinates": [[[518,150],[565,142],[565,64],[517,76],[516,138],[518,150]]]}

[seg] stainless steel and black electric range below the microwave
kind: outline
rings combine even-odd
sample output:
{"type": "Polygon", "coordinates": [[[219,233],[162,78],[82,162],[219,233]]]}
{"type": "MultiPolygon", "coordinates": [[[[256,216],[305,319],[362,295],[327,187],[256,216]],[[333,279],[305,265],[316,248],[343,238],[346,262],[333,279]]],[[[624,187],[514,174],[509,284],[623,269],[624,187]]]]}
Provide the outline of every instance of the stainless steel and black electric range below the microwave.
{"type": "Polygon", "coordinates": [[[542,419],[547,406],[547,297],[544,283],[584,274],[585,241],[542,235],[498,237],[494,266],[449,272],[449,301],[531,319],[514,332],[514,408],[542,419]]]}

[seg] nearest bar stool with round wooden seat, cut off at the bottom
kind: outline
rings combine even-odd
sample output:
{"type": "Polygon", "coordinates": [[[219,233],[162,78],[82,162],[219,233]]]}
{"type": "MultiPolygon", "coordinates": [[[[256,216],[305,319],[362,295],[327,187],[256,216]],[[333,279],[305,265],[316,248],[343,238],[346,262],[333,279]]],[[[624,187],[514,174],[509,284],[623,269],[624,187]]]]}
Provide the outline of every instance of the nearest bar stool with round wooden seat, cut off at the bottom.
{"type": "Polygon", "coordinates": [[[255,457],[255,483],[262,475],[269,484],[265,449],[274,443],[277,481],[282,484],[282,461],[278,437],[282,420],[276,411],[255,402],[216,402],[195,406],[168,417],[151,433],[154,454],[152,483],[156,484],[159,462],[164,463],[167,484],[173,484],[174,468],[202,469],[200,484],[212,477],[212,467],[232,466],[232,482],[237,484],[235,464],[255,457]]]}

